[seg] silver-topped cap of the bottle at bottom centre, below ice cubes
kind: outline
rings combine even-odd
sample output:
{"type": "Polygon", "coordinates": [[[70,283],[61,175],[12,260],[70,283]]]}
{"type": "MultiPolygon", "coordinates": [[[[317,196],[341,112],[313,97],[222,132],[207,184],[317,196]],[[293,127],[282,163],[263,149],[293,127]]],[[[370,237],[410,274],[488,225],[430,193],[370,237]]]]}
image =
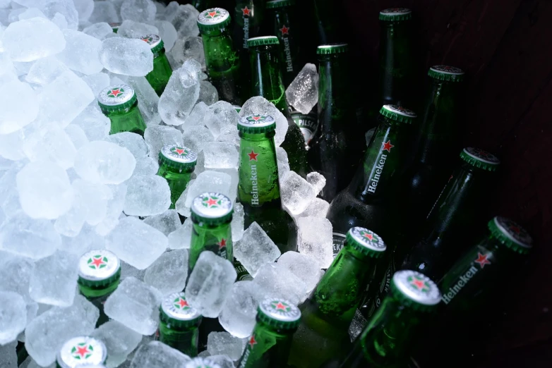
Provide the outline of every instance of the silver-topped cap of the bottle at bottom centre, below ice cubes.
{"type": "Polygon", "coordinates": [[[301,319],[298,307],[280,298],[268,298],[259,303],[257,318],[275,329],[296,329],[301,319]]]}

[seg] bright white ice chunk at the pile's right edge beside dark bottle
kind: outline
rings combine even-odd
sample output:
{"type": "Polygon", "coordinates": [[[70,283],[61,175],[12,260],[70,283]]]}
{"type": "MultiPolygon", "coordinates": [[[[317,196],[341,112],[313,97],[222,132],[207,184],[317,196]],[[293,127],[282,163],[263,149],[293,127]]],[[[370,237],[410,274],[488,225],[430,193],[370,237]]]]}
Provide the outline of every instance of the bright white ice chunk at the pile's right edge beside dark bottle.
{"type": "Polygon", "coordinates": [[[333,261],[332,223],[318,217],[299,217],[297,249],[318,261],[321,269],[327,269],[333,261]]]}

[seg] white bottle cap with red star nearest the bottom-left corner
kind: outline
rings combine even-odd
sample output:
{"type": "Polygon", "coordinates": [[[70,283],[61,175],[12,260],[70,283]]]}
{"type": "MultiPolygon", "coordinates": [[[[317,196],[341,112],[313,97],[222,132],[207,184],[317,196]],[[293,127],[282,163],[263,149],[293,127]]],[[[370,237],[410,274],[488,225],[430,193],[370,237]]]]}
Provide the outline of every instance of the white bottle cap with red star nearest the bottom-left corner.
{"type": "Polygon", "coordinates": [[[57,353],[60,368],[83,367],[92,364],[104,364],[107,348],[102,341],[88,336],[71,338],[57,353]]]}

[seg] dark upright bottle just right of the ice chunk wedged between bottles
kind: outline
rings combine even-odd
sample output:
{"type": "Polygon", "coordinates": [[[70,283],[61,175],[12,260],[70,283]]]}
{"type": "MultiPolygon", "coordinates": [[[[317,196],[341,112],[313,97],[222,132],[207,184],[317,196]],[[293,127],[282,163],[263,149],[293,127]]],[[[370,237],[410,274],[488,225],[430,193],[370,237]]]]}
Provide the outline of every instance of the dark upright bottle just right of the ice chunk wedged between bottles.
{"type": "Polygon", "coordinates": [[[348,45],[326,44],[316,52],[320,64],[318,130],[307,155],[313,170],[326,178],[320,197],[331,202],[349,184],[366,149],[366,140],[352,106],[348,45]]]}

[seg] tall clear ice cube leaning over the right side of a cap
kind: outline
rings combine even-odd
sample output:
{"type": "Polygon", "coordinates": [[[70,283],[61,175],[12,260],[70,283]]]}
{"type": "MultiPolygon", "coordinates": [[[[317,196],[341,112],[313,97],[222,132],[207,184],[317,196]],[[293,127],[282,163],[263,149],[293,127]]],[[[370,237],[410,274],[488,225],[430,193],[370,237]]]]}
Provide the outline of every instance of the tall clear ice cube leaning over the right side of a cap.
{"type": "Polygon", "coordinates": [[[218,317],[236,276],[231,262],[205,250],[188,278],[186,299],[203,316],[218,317]]]}

